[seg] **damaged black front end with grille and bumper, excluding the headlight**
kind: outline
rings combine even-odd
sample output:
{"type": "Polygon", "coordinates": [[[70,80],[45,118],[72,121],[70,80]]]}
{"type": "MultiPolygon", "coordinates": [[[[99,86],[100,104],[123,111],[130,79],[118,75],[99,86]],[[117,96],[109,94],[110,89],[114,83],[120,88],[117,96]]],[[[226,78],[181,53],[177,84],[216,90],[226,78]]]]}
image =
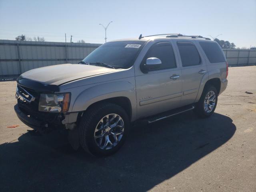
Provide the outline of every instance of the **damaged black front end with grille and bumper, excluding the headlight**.
{"type": "Polygon", "coordinates": [[[45,86],[21,76],[17,82],[17,104],[14,106],[14,110],[24,124],[41,133],[47,133],[56,128],[73,130],[76,127],[79,112],[57,113],[38,110],[40,94],[44,92],[54,93],[59,90],[58,86],[45,86]]]}

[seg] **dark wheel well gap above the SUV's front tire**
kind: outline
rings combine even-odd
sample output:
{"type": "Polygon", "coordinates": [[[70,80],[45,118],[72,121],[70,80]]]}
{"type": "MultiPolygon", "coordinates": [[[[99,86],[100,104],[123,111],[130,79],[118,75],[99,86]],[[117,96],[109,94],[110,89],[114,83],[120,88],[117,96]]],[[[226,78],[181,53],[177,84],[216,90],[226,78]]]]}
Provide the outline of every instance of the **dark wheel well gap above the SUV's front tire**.
{"type": "Polygon", "coordinates": [[[102,102],[113,103],[113,104],[116,104],[116,105],[122,107],[126,111],[126,113],[128,114],[128,116],[129,116],[129,118],[131,120],[131,118],[132,118],[132,105],[131,105],[130,100],[127,97],[113,97],[113,98],[108,98],[108,99],[100,100],[100,101],[97,101],[97,102],[91,104],[87,108],[87,110],[89,108],[94,107],[95,105],[98,105],[98,104],[102,103],[102,102]]]}

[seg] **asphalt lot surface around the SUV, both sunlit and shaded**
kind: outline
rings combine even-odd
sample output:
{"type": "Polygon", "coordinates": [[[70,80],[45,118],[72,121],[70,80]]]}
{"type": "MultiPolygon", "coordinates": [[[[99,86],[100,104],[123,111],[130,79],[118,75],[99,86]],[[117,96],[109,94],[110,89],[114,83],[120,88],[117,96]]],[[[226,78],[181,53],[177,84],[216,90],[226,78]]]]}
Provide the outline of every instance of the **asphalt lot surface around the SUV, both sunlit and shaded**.
{"type": "Polygon", "coordinates": [[[64,130],[28,132],[13,109],[16,82],[2,81],[0,191],[255,192],[256,66],[229,68],[228,80],[210,118],[190,111],[132,127],[106,158],[72,150],[64,130]]]}

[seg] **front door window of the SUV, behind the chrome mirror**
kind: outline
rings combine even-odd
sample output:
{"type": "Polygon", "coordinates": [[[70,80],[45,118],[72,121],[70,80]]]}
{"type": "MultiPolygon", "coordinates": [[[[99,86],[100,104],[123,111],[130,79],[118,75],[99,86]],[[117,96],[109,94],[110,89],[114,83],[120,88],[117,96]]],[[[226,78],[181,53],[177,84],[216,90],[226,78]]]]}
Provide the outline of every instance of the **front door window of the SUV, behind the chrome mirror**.
{"type": "Polygon", "coordinates": [[[146,63],[146,59],[150,57],[156,57],[162,62],[161,67],[154,70],[176,68],[176,60],[170,42],[160,42],[152,45],[148,50],[143,63],[146,63]]]}

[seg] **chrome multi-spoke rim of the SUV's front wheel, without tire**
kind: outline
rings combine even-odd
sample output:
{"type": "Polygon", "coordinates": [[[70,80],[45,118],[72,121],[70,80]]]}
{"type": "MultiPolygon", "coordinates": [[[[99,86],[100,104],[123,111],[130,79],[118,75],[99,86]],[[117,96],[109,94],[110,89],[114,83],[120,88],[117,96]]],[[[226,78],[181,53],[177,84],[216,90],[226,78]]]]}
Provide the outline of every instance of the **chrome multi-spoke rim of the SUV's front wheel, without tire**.
{"type": "Polygon", "coordinates": [[[97,124],[94,141],[103,150],[116,146],[124,134],[124,121],[118,114],[108,114],[97,124]]]}

